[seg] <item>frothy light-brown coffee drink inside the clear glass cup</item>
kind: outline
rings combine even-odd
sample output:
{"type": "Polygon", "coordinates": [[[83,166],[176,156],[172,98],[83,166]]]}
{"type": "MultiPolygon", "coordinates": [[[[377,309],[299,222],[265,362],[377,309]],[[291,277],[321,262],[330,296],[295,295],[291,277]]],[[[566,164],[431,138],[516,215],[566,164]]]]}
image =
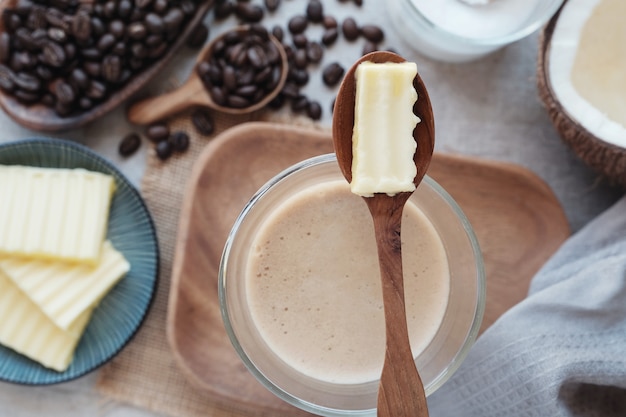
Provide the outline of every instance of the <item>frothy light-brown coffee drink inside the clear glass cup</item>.
{"type": "MultiPolygon", "coordinates": [[[[402,252],[417,356],[443,320],[450,273],[437,231],[411,201],[402,252]]],[[[265,342],[302,374],[340,384],[380,377],[385,321],[374,229],[345,181],[305,188],[271,213],[248,257],[246,297],[265,342]]]]}

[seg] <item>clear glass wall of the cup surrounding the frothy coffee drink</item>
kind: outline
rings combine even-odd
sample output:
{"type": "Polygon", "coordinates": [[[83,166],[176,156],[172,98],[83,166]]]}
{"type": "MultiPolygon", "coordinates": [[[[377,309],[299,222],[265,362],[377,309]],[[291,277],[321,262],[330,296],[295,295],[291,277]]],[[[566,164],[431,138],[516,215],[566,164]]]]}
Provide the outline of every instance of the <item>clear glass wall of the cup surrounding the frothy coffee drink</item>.
{"type": "MultiPolygon", "coordinates": [[[[330,383],[293,369],[268,347],[246,299],[246,264],[263,222],[294,193],[338,179],[345,181],[335,155],[322,155],[283,171],[252,197],[235,221],[224,248],[219,301],[235,350],[268,390],[296,407],[322,416],[374,416],[378,380],[330,383]]],[[[431,343],[415,359],[429,395],[450,378],[476,339],[485,307],[485,272],[472,227],[441,186],[426,176],[411,200],[437,230],[450,271],[450,294],[442,323],[431,343]]]]}

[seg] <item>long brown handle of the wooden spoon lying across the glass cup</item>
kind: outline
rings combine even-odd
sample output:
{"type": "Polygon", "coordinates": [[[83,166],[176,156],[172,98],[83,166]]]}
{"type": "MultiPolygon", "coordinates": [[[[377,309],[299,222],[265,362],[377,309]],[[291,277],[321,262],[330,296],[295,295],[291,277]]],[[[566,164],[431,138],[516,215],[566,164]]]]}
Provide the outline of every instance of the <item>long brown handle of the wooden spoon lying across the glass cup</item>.
{"type": "Polygon", "coordinates": [[[378,416],[428,417],[422,380],[415,367],[407,329],[400,226],[406,198],[375,194],[365,198],[374,221],[385,311],[385,361],[378,391],[378,416]]]}

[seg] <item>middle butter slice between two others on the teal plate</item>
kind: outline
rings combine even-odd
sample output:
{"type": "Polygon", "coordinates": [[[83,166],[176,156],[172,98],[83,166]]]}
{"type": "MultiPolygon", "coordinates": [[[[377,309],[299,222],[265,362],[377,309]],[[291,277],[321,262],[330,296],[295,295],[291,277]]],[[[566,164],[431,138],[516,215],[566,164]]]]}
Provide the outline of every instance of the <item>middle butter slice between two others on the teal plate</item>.
{"type": "Polygon", "coordinates": [[[122,279],[130,264],[107,240],[97,266],[6,258],[0,259],[0,270],[56,326],[68,330],[122,279]]]}

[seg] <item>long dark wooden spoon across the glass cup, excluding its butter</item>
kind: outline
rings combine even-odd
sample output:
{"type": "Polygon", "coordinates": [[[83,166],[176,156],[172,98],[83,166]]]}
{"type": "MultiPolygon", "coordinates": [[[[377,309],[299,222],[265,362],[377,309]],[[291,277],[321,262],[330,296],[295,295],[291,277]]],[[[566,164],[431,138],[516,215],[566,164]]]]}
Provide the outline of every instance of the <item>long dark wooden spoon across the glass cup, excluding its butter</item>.
{"type": "MultiPolygon", "coordinates": [[[[333,112],[332,133],[337,161],[348,182],[352,181],[352,129],[356,93],[354,73],[356,67],[364,61],[383,63],[405,60],[391,52],[372,52],[358,60],[341,83],[333,112]]],[[[432,157],[435,126],[428,92],[419,75],[413,80],[413,86],[418,95],[413,112],[421,119],[413,132],[417,141],[417,151],[413,157],[417,175],[413,182],[418,186],[432,157]]],[[[402,209],[411,194],[403,192],[388,196],[376,193],[374,197],[364,197],[374,221],[386,325],[385,361],[378,390],[378,416],[428,416],[424,386],[409,344],[404,305],[400,224],[402,209]]]]}

